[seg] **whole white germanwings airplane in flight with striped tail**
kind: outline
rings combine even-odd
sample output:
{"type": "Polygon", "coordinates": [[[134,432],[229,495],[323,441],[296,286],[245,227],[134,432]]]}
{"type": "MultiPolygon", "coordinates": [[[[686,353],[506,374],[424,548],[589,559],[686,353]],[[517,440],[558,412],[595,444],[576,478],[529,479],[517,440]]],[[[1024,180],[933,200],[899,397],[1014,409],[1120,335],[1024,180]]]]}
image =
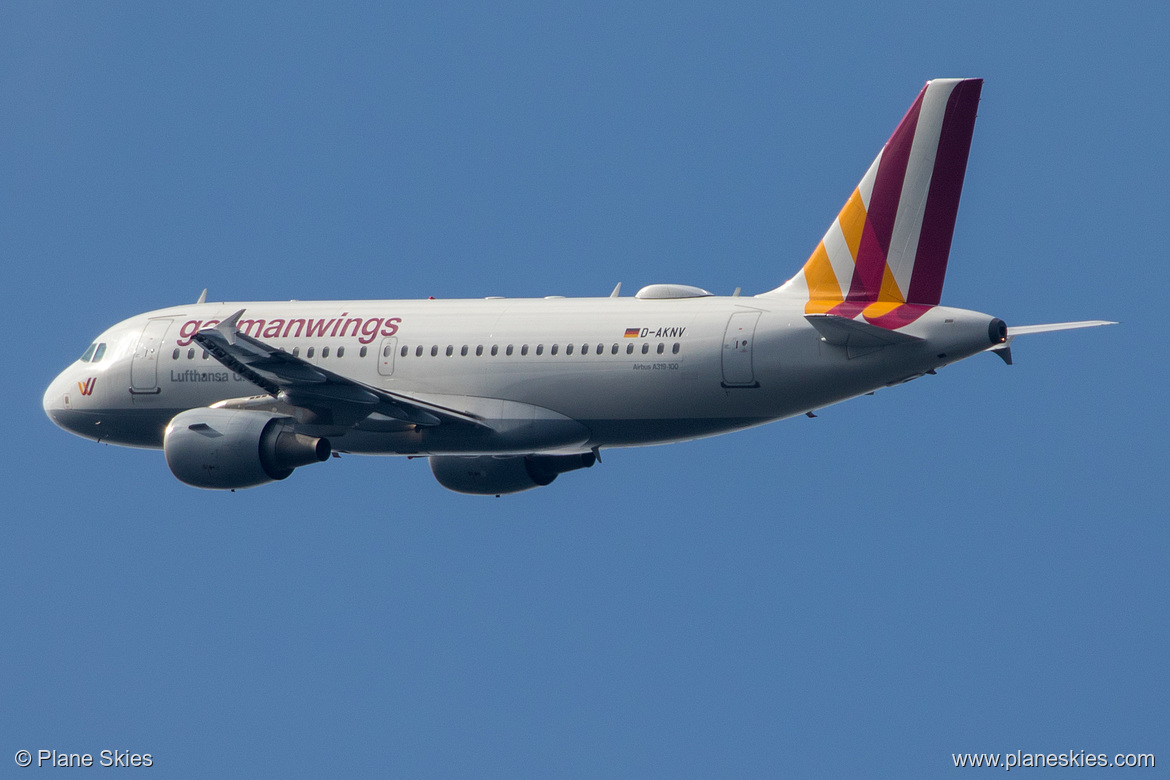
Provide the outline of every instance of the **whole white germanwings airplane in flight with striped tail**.
{"type": "Polygon", "coordinates": [[[131,317],[44,393],[85,439],[163,449],[235,490],[353,453],[429,458],[445,488],[512,493],[603,449],[807,414],[992,352],[1009,326],[940,305],[983,88],[927,82],[797,274],[756,296],[207,303],[131,317]]]}

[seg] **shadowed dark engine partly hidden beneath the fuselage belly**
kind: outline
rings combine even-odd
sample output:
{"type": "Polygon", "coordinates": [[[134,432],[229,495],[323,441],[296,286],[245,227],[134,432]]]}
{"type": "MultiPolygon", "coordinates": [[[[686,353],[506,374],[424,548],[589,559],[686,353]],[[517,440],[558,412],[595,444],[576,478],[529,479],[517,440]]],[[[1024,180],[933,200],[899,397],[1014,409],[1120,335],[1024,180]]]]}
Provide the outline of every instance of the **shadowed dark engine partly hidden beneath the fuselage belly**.
{"type": "Polygon", "coordinates": [[[461,493],[501,496],[551,484],[558,474],[587,469],[597,461],[581,455],[432,455],[431,471],[443,488],[461,493]]]}

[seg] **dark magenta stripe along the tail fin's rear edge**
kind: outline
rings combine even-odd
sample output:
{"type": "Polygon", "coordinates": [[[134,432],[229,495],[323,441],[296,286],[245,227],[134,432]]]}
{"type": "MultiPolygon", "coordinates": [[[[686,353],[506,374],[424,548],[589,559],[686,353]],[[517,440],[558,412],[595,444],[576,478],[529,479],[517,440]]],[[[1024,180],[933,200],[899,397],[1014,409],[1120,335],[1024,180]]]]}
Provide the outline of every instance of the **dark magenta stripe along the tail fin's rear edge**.
{"type": "Polygon", "coordinates": [[[909,302],[935,305],[942,297],[951,236],[955,234],[955,216],[958,214],[958,200],[963,192],[963,177],[982,90],[983,80],[964,81],[956,84],[947,101],[922,233],[918,236],[918,250],[914,257],[914,274],[906,296],[909,302]]]}

